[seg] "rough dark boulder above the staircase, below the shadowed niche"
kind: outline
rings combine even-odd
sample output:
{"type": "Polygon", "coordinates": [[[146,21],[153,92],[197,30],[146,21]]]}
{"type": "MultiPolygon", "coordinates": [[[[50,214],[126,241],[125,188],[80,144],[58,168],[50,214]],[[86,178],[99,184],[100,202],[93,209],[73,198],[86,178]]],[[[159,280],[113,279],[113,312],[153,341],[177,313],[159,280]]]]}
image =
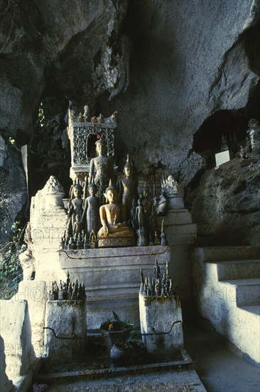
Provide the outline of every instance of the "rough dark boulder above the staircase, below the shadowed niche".
{"type": "Polygon", "coordinates": [[[198,242],[203,245],[259,245],[260,162],[239,158],[207,170],[189,195],[198,242]]]}

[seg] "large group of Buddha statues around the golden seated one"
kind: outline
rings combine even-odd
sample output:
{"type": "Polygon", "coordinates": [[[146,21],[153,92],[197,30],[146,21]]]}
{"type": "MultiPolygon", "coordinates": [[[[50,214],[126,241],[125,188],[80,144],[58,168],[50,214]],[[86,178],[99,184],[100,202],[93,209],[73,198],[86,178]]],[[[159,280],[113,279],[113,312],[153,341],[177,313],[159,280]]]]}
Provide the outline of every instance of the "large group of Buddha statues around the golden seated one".
{"type": "MultiPolygon", "coordinates": [[[[156,232],[153,200],[145,188],[138,192],[134,165],[127,156],[124,177],[116,180],[114,162],[107,156],[104,139],[96,142],[97,157],[90,175],[75,180],[67,205],[68,225],[62,249],[126,247],[161,244],[156,232]]],[[[162,230],[161,238],[165,242],[162,230]]]]}

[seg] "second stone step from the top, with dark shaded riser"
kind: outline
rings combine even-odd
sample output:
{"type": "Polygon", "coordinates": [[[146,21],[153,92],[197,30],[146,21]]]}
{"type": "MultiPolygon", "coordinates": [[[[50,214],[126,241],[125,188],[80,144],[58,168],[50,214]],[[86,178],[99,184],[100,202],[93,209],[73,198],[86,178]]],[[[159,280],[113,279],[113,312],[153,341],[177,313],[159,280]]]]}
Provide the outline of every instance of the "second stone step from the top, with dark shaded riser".
{"type": "Polygon", "coordinates": [[[260,278],[260,259],[217,262],[218,279],[260,278]]]}

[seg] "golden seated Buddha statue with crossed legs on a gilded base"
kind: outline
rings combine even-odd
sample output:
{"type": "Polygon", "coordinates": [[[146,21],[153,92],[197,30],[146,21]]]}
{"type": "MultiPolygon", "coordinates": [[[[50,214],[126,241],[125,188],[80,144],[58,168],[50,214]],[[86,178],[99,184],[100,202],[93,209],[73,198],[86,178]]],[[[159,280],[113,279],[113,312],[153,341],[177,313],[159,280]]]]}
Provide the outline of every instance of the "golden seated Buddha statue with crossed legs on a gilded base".
{"type": "Polygon", "coordinates": [[[127,227],[126,206],[117,204],[117,187],[110,184],[104,197],[109,204],[102,205],[99,209],[102,228],[97,233],[98,238],[130,237],[134,238],[134,231],[127,227]]]}

